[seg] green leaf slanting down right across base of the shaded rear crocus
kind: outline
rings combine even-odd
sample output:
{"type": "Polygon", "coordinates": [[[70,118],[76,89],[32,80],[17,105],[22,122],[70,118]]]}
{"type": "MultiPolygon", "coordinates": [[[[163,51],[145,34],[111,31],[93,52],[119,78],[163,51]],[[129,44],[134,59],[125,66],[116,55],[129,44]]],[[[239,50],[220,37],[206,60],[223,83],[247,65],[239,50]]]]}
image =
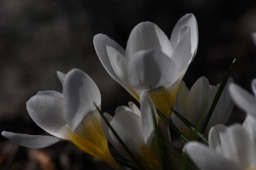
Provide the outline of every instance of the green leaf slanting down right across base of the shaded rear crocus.
{"type": "Polygon", "coordinates": [[[208,143],[208,139],[206,136],[204,136],[204,134],[202,134],[201,132],[197,132],[195,131],[195,126],[188,121],[188,119],[186,119],[184,116],[182,116],[179,112],[177,112],[176,110],[174,110],[172,108],[173,113],[194,133],[196,132],[196,136],[201,139],[205,144],[209,144],[208,143]]]}

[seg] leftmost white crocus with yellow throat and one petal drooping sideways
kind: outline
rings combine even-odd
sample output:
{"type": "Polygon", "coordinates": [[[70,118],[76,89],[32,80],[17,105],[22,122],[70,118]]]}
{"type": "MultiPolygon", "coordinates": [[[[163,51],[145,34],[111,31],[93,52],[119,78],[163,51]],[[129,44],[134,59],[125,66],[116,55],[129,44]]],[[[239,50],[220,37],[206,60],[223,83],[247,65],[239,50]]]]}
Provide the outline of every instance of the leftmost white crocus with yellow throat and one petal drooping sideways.
{"type": "Polygon", "coordinates": [[[26,102],[34,122],[53,136],[26,135],[3,131],[1,134],[18,145],[43,148],[60,141],[74,143],[82,151],[101,158],[113,169],[121,169],[113,159],[103,133],[100,115],[94,105],[101,105],[101,95],[93,80],[83,71],[73,69],[67,75],[57,72],[63,94],[39,91],[26,102]]]}

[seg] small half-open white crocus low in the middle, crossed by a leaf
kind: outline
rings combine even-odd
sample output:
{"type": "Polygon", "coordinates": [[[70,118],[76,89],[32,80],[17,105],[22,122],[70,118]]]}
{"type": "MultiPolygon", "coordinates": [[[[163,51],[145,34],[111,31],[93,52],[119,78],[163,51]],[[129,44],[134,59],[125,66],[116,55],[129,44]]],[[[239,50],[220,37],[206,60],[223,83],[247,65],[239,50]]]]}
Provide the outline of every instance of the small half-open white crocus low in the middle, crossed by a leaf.
{"type": "MultiPolygon", "coordinates": [[[[153,114],[157,119],[157,113],[147,92],[142,92],[140,102],[140,110],[134,103],[129,102],[129,107],[117,107],[113,117],[108,113],[104,115],[145,169],[159,169],[158,156],[153,145],[153,114]]],[[[101,123],[108,141],[119,153],[129,159],[129,155],[103,119],[101,123]]]]}

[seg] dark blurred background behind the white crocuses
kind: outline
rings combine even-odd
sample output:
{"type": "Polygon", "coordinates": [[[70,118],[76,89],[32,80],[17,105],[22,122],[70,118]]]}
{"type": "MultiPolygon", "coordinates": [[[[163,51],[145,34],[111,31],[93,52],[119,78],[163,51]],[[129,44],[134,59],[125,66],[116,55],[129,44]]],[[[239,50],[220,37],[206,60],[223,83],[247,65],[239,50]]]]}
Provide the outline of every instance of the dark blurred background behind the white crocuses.
{"type": "MultiPolygon", "coordinates": [[[[0,0],[0,131],[47,135],[26,111],[26,101],[41,90],[62,91],[56,71],[85,71],[98,85],[102,111],[136,102],[106,73],[93,46],[103,33],[126,47],[132,28],[156,23],[168,37],[186,13],[196,16],[199,46],[184,80],[221,82],[234,58],[234,82],[251,91],[256,77],[256,1],[252,0],[0,0]]],[[[243,121],[237,107],[229,123],[243,121]]],[[[108,169],[67,142],[27,149],[0,136],[1,170],[108,169]]]]}

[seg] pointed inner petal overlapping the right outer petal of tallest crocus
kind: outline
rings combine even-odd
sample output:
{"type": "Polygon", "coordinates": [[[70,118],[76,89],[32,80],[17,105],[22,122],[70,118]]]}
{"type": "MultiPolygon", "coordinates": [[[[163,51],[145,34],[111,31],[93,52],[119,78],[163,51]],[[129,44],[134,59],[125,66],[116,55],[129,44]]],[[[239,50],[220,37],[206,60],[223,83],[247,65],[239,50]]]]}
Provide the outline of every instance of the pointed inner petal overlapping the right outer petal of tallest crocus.
{"type": "Polygon", "coordinates": [[[176,48],[174,48],[172,59],[181,71],[181,74],[184,75],[192,59],[190,28],[188,26],[184,25],[180,27],[178,41],[176,48]]]}

